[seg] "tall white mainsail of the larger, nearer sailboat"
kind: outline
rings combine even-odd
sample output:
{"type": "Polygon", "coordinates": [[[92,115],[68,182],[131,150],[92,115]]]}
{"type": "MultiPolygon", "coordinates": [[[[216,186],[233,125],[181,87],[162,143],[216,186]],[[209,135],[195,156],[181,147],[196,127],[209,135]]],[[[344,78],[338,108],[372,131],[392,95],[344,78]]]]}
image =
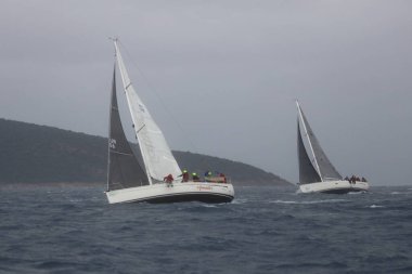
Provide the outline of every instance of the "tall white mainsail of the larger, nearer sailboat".
{"type": "Polygon", "coordinates": [[[134,133],[140,145],[150,183],[153,184],[152,179],[163,181],[167,174],[172,174],[173,178],[177,178],[181,174],[179,165],[171,154],[162,130],[133,89],[123,62],[117,40],[114,43],[131,119],[134,123],[134,133]]]}

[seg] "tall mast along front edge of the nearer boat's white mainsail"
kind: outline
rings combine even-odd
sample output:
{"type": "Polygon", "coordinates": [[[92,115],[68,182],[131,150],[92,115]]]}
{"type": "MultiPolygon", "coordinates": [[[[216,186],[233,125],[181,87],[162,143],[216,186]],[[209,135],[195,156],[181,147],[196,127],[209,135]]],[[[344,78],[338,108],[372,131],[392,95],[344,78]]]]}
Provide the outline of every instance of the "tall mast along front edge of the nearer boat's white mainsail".
{"type": "MultiPolygon", "coordinates": [[[[125,90],[125,93],[126,93],[129,110],[131,112],[132,105],[131,105],[131,102],[130,102],[130,99],[129,99],[129,92],[128,92],[128,89],[131,87],[131,80],[130,80],[130,78],[127,75],[126,67],[125,67],[125,64],[124,64],[123,58],[121,58],[120,51],[119,51],[118,45],[117,45],[117,40],[118,40],[117,38],[113,39],[113,42],[115,44],[115,56],[116,56],[116,60],[117,60],[117,65],[118,65],[119,70],[120,70],[121,81],[123,81],[124,90],[125,90]]],[[[134,115],[132,115],[132,113],[131,113],[131,119],[133,121],[134,127],[137,125],[139,125],[138,121],[134,118],[134,115]]],[[[141,126],[140,129],[142,129],[143,127],[144,127],[144,125],[141,126]]],[[[136,138],[138,139],[138,141],[140,141],[139,140],[139,131],[140,131],[140,129],[136,129],[134,128],[134,133],[136,133],[136,138]]],[[[144,151],[142,149],[141,145],[139,145],[139,148],[140,148],[140,153],[142,154],[143,161],[144,161],[144,169],[146,171],[149,183],[153,184],[150,170],[149,170],[147,165],[145,162],[145,158],[146,157],[145,157],[144,151]]]]}

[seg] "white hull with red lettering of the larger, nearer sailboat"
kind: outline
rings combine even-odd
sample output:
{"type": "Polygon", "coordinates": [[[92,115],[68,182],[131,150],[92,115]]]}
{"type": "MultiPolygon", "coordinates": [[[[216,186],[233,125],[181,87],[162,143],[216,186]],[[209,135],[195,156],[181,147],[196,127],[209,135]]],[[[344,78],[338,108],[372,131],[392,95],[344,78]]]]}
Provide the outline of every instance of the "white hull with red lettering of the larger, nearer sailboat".
{"type": "Polygon", "coordinates": [[[125,190],[106,192],[110,204],[147,201],[147,203],[173,203],[173,201],[204,201],[229,203],[234,197],[232,184],[208,182],[173,182],[152,184],[125,190]]]}

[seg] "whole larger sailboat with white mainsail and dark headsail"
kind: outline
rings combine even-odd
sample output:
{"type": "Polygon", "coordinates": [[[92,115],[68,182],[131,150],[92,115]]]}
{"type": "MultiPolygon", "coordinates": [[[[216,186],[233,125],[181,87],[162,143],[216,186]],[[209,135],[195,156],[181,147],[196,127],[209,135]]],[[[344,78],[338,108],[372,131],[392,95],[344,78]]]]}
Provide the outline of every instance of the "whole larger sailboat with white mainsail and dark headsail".
{"type": "Polygon", "coordinates": [[[110,115],[108,164],[106,196],[110,204],[147,201],[230,203],[234,197],[231,183],[182,182],[182,171],[166,139],[147,108],[136,93],[126,70],[117,39],[110,115]],[[121,126],[116,95],[116,63],[133,121],[139,149],[128,142],[121,126]],[[173,181],[164,182],[167,175],[173,181]]]}

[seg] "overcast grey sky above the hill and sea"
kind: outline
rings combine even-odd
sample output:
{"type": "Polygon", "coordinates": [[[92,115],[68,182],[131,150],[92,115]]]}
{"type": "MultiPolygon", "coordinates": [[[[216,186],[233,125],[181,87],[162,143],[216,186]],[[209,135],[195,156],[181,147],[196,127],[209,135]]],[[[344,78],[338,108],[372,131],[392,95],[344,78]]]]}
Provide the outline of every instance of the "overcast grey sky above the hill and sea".
{"type": "Polygon", "coordinates": [[[344,177],[412,184],[411,11],[408,0],[2,0],[0,118],[106,136],[118,37],[172,149],[297,182],[298,99],[344,177]]]}

